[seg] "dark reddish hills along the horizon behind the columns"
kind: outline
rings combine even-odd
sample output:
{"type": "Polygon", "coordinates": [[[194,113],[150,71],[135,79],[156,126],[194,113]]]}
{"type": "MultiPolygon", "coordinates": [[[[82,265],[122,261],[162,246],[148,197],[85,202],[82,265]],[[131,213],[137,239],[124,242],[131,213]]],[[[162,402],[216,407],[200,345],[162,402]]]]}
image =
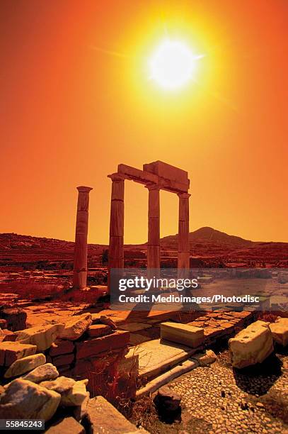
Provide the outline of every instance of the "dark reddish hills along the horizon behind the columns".
{"type": "MultiPolygon", "coordinates": [[[[288,243],[255,242],[228,235],[209,227],[200,228],[189,233],[190,253],[194,257],[243,257],[288,260],[288,243]]],[[[178,250],[178,234],[161,238],[163,252],[178,250]]],[[[90,258],[101,255],[107,245],[89,244],[90,258]]],[[[125,245],[132,252],[146,250],[147,244],[125,245]]],[[[29,260],[72,260],[74,243],[54,238],[40,238],[16,233],[0,234],[0,260],[5,262],[29,260]]]]}

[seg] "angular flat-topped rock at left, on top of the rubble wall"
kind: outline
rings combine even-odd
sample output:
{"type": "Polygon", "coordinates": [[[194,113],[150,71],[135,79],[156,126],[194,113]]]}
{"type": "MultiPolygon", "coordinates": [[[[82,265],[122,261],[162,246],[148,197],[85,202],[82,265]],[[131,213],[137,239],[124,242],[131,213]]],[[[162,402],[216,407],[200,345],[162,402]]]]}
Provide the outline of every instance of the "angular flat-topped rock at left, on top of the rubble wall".
{"type": "Polygon", "coordinates": [[[24,340],[25,343],[36,345],[38,351],[44,351],[52,345],[63,329],[64,324],[60,323],[26,328],[17,332],[16,342],[24,340]]]}

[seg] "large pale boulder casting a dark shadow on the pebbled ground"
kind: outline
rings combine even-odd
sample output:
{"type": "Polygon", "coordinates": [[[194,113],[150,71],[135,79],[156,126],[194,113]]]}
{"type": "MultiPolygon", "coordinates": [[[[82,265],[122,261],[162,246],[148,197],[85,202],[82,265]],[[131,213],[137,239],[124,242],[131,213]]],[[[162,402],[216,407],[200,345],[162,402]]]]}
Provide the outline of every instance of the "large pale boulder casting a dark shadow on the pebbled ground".
{"type": "Polygon", "coordinates": [[[274,350],[269,323],[255,321],[229,339],[232,365],[237,368],[262,363],[274,350]]]}

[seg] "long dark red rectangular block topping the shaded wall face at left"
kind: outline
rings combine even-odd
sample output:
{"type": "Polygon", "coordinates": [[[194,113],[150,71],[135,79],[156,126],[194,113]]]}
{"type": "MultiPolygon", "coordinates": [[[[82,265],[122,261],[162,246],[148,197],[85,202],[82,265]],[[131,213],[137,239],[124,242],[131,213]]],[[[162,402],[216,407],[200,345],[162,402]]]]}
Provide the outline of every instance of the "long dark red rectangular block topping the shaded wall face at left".
{"type": "Polygon", "coordinates": [[[129,332],[117,330],[111,335],[76,343],[76,360],[83,359],[84,357],[93,357],[100,352],[109,352],[116,348],[125,347],[129,343],[129,336],[129,332]]]}

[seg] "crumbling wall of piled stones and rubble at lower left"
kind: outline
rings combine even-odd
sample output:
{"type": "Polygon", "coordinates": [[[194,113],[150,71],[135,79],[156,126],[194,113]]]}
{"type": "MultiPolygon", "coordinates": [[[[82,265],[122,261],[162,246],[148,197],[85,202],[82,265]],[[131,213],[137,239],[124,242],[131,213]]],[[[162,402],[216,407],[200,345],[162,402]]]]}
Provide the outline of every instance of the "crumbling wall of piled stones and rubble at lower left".
{"type": "MultiPolygon", "coordinates": [[[[50,434],[65,429],[93,433],[99,408],[110,404],[102,396],[91,397],[103,393],[113,401],[107,392],[118,396],[118,384],[129,390],[128,343],[128,331],[91,313],[72,316],[65,324],[0,329],[0,418],[44,419],[50,434]]],[[[119,423],[137,431],[114,411],[119,423]]]]}

